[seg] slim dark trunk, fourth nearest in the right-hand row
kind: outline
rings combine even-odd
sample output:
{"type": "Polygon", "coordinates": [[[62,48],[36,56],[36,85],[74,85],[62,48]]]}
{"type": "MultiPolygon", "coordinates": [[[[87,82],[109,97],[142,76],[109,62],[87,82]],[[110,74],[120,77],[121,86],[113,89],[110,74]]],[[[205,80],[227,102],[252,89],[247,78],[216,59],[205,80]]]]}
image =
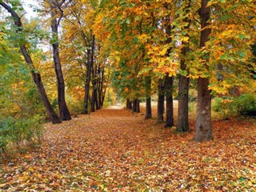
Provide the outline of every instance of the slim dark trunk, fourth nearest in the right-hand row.
{"type": "Polygon", "coordinates": [[[163,113],[165,110],[164,82],[162,78],[158,80],[158,123],[163,122],[163,113]]]}

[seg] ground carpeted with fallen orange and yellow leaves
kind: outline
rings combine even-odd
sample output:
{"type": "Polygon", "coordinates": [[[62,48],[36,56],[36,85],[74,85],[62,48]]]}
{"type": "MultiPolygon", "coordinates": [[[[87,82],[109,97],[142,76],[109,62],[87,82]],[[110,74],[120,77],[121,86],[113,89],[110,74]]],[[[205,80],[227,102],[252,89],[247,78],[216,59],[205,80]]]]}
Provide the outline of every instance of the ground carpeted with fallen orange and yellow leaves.
{"type": "Polygon", "coordinates": [[[0,191],[255,191],[256,119],[213,120],[211,142],[190,128],[120,105],[46,123],[40,146],[0,163],[0,191]]]}

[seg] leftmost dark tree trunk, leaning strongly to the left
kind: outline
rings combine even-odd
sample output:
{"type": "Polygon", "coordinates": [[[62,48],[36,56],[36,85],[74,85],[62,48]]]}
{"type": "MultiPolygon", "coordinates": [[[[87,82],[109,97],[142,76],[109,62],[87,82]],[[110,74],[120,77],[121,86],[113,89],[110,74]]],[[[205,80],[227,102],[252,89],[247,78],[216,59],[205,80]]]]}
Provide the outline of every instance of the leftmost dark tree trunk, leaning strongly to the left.
{"type": "MultiPolygon", "coordinates": [[[[14,18],[14,24],[15,26],[18,27],[17,32],[21,31],[23,29],[23,26],[22,26],[21,18],[18,16],[18,14],[5,2],[0,2],[0,5],[11,14],[12,18],[14,18]]],[[[46,90],[42,84],[41,75],[39,72],[36,72],[34,68],[29,51],[26,49],[26,46],[24,45],[22,45],[20,49],[22,51],[23,57],[25,58],[27,65],[30,67],[30,73],[32,74],[34,83],[38,88],[38,92],[40,94],[42,104],[46,108],[46,112],[49,115],[50,121],[53,122],[54,124],[60,123],[61,120],[58,118],[58,115],[55,113],[54,108],[50,105],[50,101],[47,97],[46,90]]]]}

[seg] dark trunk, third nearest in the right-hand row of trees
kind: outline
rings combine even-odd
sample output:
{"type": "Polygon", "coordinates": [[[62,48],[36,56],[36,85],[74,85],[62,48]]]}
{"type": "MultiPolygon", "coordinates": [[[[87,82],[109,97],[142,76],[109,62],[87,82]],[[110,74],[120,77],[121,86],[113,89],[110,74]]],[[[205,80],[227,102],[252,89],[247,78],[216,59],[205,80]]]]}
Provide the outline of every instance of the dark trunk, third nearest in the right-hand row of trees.
{"type": "Polygon", "coordinates": [[[173,99],[173,77],[166,75],[165,92],[166,92],[166,127],[174,126],[174,99],[173,99]]]}

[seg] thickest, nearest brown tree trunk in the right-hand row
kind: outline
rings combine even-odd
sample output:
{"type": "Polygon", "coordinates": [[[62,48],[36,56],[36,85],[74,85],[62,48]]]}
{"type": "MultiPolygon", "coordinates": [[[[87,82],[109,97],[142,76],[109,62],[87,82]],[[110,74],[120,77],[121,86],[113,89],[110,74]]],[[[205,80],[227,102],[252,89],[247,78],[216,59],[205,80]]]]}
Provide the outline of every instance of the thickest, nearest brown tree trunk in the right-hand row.
{"type": "MultiPolygon", "coordinates": [[[[207,6],[209,0],[201,1],[201,9],[199,10],[201,18],[201,37],[200,47],[206,46],[210,35],[210,6],[207,6]]],[[[209,55],[205,55],[206,62],[209,62],[209,55]]],[[[209,70],[209,67],[206,66],[209,70]]],[[[194,140],[203,142],[213,139],[211,128],[211,95],[209,86],[209,78],[198,78],[198,106],[196,118],[196,133],[194,140]]]]}

